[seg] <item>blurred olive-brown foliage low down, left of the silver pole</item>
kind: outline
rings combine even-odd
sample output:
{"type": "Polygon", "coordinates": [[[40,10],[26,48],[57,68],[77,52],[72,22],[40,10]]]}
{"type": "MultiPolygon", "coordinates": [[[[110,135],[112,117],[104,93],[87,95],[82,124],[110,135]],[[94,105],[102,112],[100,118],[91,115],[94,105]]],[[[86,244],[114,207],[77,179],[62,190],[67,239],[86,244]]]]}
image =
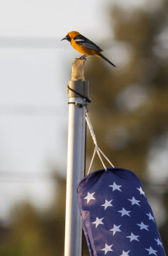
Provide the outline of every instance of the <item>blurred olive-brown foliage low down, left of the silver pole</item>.
{"type": "Polygon", "coordinates": [[[29,203],[15,205],[10,227],[0,225],[1,256],[63,255],[66,180],[55,180],[56,201],[50,209],[40,213],[29,203]]]}

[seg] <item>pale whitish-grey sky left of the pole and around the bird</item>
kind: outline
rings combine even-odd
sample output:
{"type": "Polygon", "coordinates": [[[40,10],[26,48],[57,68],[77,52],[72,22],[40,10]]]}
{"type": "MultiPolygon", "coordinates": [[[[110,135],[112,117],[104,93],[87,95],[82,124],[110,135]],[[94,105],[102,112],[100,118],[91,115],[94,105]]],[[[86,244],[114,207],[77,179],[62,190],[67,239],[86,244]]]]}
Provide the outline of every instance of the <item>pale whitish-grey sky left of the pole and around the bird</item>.
{"type": "Polygon", "coordinates": [[[0,219],[17,200],[51,204],[51,170],[66,175],[66,86],[80,56],[60,40],[72,30],[97,44],[111,38],[107,13],[116,2],[148,1],[0,0],[0,219]]]}

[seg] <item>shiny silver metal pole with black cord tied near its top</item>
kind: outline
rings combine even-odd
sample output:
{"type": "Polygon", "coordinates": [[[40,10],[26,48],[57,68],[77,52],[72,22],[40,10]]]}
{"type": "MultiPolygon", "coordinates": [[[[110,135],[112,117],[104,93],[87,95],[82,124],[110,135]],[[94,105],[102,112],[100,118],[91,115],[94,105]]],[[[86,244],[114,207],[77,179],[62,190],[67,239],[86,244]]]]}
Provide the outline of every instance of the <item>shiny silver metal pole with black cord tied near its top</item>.
{"type": "MultiPolygon", "coordinates": [[[[88,81],[70,81],[69,87],[88,97],[88,81]]],[[[84,177],[85,167],[85,136],[86,108],[82,99],[76,93],[68,90],[69,104],[68,121],[68,159],[66,175],[66,219],[65,219],[65,256],[80,256],[82,248],[82,225],[77,206],[76,189],[84,177]],[[81,108],[79,108],[81,107],[81,108]]]]}

